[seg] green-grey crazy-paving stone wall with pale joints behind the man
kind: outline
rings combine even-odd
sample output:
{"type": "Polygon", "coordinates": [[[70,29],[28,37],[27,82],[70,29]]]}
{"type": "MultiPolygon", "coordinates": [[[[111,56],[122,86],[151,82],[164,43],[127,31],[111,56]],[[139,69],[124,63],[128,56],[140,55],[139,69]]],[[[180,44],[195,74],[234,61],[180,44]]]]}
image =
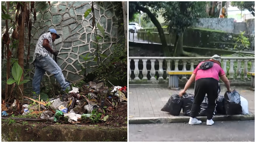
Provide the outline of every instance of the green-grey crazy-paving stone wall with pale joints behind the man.
{"type": "MultiPolygon", "coordinates": [[[[100,50],[106,55],[110,55],[118,37],[117,20],[121,18],[114,12],[116,2],[94,2],[95,20],[105,29],[105,35],[108,35],[109,40],[105,40],[100,44],[100,50]],[[101,9],[100,6],[104,8],[101,9]]],[[[95,27],[92,27],[92,15],[89,14],[84,18],[84,13],[91,8],[92,2],[51,2],[51,5],[42,2],[37,2],[36,12],[37,19],[32,26],[33,43],[30,53],[30,62],[32,62],[35,45],[39,35],[46,32],[48,29],[56,29],[60,35],[59,39],[54,42],[53,49],[59,50],[58,65],[63,71],[64,77],[70,81],[77,81],[82,78],[79,75],[81,66],[79,63],[84,63],[80,55],[92,56],[96,47],[92,44],[94,41],[95,27]]],[[[32,19],[32,22],[34,19],[32,19]]],[[[99,30],[97,30],[99,34],[99,30]]],[[[90,65],[89,62],[88,64],[90,65]]],[[[29,64],[32,69],[30,77],[33,77],[34,67],[29,64]]],[[[50,79],[54,79],[53,75],[46,72],[50,79]]]]}

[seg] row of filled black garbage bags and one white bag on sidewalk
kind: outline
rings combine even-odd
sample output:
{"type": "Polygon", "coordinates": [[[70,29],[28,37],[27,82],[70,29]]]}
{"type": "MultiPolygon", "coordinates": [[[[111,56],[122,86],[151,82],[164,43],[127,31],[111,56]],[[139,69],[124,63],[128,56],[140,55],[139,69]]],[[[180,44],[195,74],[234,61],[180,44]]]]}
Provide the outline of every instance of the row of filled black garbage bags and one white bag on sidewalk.
{"type": "MultiPolygon", "coordinates": [[[[179,116],[182,109],[185,116],[190,116],[192,103],[194,101],[194,95],[185,93],[182,97],[177,94],[171,95],[168,102],[161,109],[161,111],[169,112],[173,116],[179,116]]],[[[237,91],[232,91],[219,95],[216,99],[215,112],[222,115],[236,115],[236,114],[249,114],[248,101],[240,96],[237,91]]],[[[207,116],[208,98],[204,97],[203,102],[200,105],[200,111],[198,116],[207,116]]]]}

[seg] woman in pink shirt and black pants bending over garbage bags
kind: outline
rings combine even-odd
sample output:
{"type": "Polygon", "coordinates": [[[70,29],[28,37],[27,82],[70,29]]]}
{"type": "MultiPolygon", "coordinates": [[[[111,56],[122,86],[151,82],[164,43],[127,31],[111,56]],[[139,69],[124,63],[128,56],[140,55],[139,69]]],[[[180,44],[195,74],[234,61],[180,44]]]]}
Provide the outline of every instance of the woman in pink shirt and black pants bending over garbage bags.
{"type": "Polygon", "coordinates": [[[220,79],[225,83],[227,91],[231,92],[230,83],[225,72],[221,68],[221,63],[217,60],[206,60],[198,64],[190,79],[186,83],[184,90],[180,91],[180,97],[186,92],[190,85],[195,81],[195,96],[192,104],[189,124],[201,124],[202,121],[196,119],[196,115],[200,110],[200,104],[203,102],[205,94],[208,98],[207,121],[206,125],[214,124],[212,120],[215,112],[216,102],[220,93],[220,79]]]}

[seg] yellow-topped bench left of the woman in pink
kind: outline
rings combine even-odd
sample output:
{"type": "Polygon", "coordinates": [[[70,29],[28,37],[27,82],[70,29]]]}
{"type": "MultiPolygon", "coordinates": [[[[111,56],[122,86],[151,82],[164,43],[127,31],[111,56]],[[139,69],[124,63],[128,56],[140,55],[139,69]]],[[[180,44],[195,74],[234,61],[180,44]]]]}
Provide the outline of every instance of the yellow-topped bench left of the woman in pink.
{"type": "Polygon", "coordinates": [[[169,86],[171,90],[179,91],[179,75],[188,75],[192,74],[193,71],[170,71],[168,72],[169,75],[169,86]]]}

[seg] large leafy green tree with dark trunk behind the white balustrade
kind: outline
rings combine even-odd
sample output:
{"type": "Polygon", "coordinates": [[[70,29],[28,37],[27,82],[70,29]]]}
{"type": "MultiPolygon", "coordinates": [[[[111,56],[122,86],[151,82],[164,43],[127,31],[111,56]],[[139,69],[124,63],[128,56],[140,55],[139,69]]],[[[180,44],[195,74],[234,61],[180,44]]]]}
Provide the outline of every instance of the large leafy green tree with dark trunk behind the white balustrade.
{"type": "Polygon", "coordinates": [[[129,19],[140,11],[147,14],[145,20],[151,20],[157,27],[165,56],[183,55],[183,32],[206,17],[205,2],[129,2],[129,19]],[[162,15],[168,24],[169,32],[176,35],[174,49],[168,48],[164,31],[157,17],[162,15]]]}

